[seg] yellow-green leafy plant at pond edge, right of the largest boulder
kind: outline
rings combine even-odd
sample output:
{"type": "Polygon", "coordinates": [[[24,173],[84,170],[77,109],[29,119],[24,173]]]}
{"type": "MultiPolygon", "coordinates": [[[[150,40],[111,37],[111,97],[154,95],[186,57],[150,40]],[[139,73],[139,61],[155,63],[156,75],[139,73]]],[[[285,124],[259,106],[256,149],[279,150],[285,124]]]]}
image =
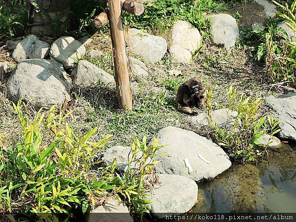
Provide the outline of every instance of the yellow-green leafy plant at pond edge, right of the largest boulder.
{"type": "Polygon", "coordinates": [[[260,113],[261,98],[239,96],[232,87],[228,91],[227,111],[237,111],[230,127],[221,127],[212,120],[212,89],[207,92],[207,116],[211,129],[211,137],[224,148],[235,161],[254,162],[266,156],[267,147],[258,139],[269,133],[271,136],[279,132],[279,120],[260,113]]]}

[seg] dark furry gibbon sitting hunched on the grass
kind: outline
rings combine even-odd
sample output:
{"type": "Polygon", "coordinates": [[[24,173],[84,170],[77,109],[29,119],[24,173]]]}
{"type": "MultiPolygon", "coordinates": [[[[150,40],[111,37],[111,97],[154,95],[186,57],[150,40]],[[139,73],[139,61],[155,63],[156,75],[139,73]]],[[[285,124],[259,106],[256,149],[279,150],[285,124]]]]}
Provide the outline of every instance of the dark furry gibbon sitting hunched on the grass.
{"type": "Polygon", "coordinates": [[[205,99],[205,89],[199,78],[190,78],[185,81],[180,85],[176,96],[178,110],[188,114],[194,114],[194,107],[202,108],[205,99]]]}

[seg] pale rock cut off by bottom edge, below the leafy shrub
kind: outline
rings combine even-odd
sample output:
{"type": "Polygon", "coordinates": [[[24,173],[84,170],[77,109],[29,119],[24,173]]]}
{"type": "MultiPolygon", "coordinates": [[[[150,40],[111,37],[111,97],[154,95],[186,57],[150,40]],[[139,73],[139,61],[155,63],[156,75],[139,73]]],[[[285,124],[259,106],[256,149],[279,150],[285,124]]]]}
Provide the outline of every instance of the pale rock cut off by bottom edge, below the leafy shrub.
{"type": "Polygon", "coordinates": [[[115,198],[110,198],[105,205],[92,207],[86,214],[86,222],[133,222],[127,206],[115,198]]]}

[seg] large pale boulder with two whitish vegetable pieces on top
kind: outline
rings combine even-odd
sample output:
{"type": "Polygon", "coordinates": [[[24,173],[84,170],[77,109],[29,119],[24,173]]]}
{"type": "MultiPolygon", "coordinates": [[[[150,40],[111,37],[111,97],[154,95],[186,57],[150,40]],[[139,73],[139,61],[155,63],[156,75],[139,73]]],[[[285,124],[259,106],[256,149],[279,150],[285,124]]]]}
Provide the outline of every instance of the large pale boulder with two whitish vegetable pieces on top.
{"type": "Polygon", "coordinates": [[[156,170],[161,174],[181,175],[197,182],[212,180],[231,166],[222,148],[194,132],[169,126],[161,129],[155,137],[158,138],[159,146],[167,145],[156,153],[169,155],[153,159],[161,160],[156,165],[156,170]],[[192,172],[185,161],[191,165],[192,172]]]}

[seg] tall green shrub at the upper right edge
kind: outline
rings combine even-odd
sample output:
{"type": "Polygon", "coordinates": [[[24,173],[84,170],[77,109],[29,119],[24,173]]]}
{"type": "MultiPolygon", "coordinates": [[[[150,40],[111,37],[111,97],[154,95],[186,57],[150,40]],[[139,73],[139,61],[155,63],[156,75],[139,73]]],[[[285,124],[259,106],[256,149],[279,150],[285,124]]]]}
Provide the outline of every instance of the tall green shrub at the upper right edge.
{"type": "MultiPolygon", "coordinates": [[[[277,12],[280,18],[296,32],[296,0],[289,6],[273,1],[284,13],[277,12]]],[[[263,31],[254,30],[250,37],[255,37],[256,58],[264,61],[266,75],[270,82],[286,82],[296,87],[296,41],[290,39],[286,31],[278,28],[279,19],[270,19],[263,31]]],[[[252,41],[253,43],[255,41],[252,41]]]]}

